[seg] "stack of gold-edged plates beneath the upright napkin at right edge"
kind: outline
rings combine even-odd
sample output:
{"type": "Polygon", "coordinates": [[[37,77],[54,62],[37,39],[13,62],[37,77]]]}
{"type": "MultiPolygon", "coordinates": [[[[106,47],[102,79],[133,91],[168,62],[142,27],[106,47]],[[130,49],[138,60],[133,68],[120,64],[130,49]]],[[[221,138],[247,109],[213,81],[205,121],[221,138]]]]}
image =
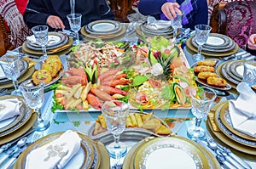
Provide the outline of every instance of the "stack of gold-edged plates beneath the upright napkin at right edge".
{"type": "Polygon", "coordinates": [[[220,102],[215,105],[213,121],[221,132],[215,132],[208,120],[208,128],[220,141],[227,144],[232,149],[241,151],[249,155],[256,155],[256,138],[237,131],[232,126],[229,113],[229,103],[220,102]]]}

